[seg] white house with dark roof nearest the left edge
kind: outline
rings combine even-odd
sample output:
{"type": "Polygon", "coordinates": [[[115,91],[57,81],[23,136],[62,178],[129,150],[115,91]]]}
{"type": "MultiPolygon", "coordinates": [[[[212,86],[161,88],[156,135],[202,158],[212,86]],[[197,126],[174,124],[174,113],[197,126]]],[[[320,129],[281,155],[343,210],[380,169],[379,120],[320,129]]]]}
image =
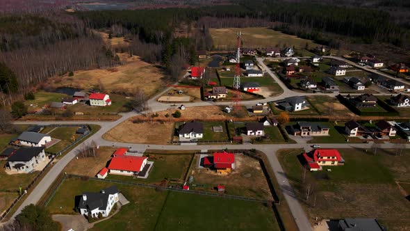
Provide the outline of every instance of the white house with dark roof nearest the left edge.
{"type": "Polygon", "coordinates": [[[44,147],[19,148],[8,157],[6,168],[21,173],[31,173],[35,170],[35,166],[45,160],[45,157],[44,147]]]}

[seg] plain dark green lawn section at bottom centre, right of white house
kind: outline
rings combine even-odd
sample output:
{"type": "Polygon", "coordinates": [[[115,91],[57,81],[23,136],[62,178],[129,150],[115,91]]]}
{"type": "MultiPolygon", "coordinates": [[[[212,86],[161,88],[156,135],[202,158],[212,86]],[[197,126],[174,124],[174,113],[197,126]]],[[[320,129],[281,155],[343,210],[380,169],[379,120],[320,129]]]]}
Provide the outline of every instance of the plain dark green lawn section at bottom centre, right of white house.
{"type": "Polygon", "coordinates": [[[279,230],[261,203],[171,192],[155,230],[279,230]]]}

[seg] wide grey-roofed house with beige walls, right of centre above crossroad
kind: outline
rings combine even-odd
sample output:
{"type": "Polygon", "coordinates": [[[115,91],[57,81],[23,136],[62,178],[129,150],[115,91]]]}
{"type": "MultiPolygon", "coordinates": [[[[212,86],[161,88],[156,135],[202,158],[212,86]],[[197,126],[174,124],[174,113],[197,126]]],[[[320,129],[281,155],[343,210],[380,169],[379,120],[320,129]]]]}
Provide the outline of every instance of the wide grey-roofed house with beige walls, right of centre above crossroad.
{"type": "Polygon", "coordinates": [[[293,136],[329,136],[329,127],[320,122],[300,121],[290,127],[293,136]]]}

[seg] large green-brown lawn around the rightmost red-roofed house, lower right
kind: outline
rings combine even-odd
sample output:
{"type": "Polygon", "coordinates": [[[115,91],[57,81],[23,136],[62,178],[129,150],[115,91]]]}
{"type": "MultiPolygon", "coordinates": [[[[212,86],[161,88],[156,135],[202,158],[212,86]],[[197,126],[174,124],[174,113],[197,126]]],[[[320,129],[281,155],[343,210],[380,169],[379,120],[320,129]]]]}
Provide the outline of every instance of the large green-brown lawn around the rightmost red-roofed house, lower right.
{"type": "Polygon", "coordinates": [[[377,155],[360,149],[339,149],[344,166],[324,166],[319,172],[304,170],[297,156],[302,150],[280,150],[277,155],[293,185],[301,205],[309,216],[322,218],[370,217],[382,220],[389,230],[409,227],[410,207],[400,193],[396,180],[410,179],[410,156],[406,151],[394,157],[394,150],[377,155]],[[331,169],[327,171],[326,169],[331,169]],[[306,185],[313,194],[306,200],[306,185]],[[313,202],[313,198],[320,198],[313,202]]]}

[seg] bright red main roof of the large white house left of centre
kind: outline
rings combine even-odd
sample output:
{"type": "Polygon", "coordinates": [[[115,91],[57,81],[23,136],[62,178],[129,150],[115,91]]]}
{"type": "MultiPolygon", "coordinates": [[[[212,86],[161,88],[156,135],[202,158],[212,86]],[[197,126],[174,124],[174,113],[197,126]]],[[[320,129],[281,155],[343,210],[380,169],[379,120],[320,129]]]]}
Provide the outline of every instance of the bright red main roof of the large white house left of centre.
{"type": "Polygon", "coordinates": [[[142,163],[145,161],[145,159],[148,158],[135,156],[116,156],[111,158],[108,169],[139,172],[140,170],[142,170],[142,163]]]}

